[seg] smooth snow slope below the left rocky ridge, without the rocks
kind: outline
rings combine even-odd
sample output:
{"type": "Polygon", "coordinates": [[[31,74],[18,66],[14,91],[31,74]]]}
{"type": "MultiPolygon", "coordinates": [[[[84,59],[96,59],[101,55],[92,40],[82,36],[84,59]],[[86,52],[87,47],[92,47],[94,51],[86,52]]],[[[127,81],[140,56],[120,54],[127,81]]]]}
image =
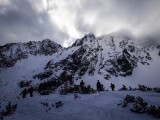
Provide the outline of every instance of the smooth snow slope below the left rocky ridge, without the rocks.
{"type": "MultiPolygon", "coordinates": [[[[32,75],[42,72],[51,58],[53,56],[30,55],[27,59],[18,61],[13,67],[4,68],[0,73],[1,101],[16,98],[21,92],[18,83],[21,80],[33,80],[32,75]]],[[[39,83],[39,81],[32,81],[32,84],[35,85],[37,82],[39,83]]]]}

